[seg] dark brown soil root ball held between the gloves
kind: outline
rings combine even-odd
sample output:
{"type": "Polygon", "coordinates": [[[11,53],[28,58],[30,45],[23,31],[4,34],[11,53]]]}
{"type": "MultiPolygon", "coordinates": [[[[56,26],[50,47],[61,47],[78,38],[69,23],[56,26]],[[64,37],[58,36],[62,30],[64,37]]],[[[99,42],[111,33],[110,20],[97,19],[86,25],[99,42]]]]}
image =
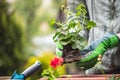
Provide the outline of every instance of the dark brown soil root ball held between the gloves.
{"type": "Polygon", "coordinates": [[[72,49],[70,45],[64,46],[63,56],[64,63],[71,63],[81,59],[80,50],[72,49]]]}

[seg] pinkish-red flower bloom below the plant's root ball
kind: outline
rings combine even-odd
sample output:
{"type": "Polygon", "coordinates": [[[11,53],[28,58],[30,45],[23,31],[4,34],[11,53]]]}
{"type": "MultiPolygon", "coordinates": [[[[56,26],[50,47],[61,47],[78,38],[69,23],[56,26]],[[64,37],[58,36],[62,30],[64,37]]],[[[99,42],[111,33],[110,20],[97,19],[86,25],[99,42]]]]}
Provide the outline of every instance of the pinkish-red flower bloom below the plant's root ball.
{"type": "Polygon", "coordinates": [[[54,69],[57,68],[57,66],[61,66],[63,63],[63,58],[60,57],[54,57],[53,60],[51,60],[50,66],[54,69]]]}

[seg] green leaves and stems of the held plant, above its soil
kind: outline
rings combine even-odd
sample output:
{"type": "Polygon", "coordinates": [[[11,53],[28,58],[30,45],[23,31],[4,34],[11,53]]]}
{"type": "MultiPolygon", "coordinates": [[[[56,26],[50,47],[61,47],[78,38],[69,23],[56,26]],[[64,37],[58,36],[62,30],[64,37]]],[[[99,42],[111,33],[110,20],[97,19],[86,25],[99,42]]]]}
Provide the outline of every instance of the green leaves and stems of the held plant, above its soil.
{"type": "Polygon", "coordinates": [[[53,36],[54,42],[59,42],[61,45],[72,45],[73,49],[82,49],[85,44],[85,38],[79,35],[79,32],[84,28],[90,29],[96,24],[86,18],[86,8],[81,3],[76,8],[76,14],[68,12],[64,9],[65,13],[71,17],[67,19],[67,22],[60,23],[52,20],[52,24],[56,23],[60,26],[53,36]]]}

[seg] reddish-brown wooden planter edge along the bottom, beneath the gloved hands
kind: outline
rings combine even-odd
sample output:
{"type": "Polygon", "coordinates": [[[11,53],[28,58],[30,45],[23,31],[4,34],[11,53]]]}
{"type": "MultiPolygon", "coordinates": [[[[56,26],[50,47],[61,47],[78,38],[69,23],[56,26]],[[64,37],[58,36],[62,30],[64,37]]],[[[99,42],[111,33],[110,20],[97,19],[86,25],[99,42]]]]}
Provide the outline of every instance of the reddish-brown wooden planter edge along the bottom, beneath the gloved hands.
{"type": "MultiPolygon", "coordinates": [[[[67,76],[64,75],[60,78],[57,78],[56,80],[109,80],[110,77],[115,76],[115,77],[120,77],[120,74],[105,74],[105,75],[71,75],[67,76]]],[[[47,80],[46,78],[41,78],[38,80],[47,80]]]]}

